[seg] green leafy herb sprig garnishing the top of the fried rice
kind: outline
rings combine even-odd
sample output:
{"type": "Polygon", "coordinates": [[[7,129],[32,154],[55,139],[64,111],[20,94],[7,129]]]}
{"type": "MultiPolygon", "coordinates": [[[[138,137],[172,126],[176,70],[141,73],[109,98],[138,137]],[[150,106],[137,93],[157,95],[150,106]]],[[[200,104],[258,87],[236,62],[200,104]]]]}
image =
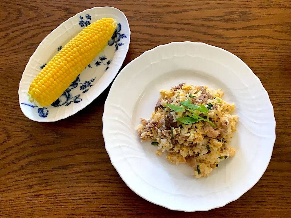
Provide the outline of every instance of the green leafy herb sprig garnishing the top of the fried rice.
{"type": "Polygon", "coordinates": [[[196,106],[195,104],[191,103],[190,99],[188,99],[187,101],[182,101],[181,105],[183,105],[184,107],[183,106],[176,106],[173,104],[166,104],[166,106],[169,107],[172,111],[181,112],[183,110],[186,110],[186,111],[189,111],[191,113],[191,114],[188,114],[187,117],[176,118],[177,121],[180,121],[183,124],[192,124],[192,123],[196,123],[198,121],[206,121],[215,127],[215,124],[212,123],[211,121],[209,121],[209,117],[208,117],[209,111],[208,111],[207,107],[205,107],[205,105],[201,104],[201,105],[196,106]],[[207,119],[200,117],[194,111],[200,111],[203,114],[206,114],[207,119]]]}

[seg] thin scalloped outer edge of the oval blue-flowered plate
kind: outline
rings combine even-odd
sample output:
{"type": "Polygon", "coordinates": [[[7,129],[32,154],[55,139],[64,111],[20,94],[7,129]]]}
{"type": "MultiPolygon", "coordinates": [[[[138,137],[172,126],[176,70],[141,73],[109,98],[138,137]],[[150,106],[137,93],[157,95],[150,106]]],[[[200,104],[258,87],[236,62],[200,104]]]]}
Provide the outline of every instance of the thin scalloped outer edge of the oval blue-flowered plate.
{"type": "Polygon", "coordinates": [[[49,33],[49,34],[48,34],[48,35],[47,35],[47,36],[46,36],[46,37],[45,37],[45,38],[44,38],[44,39],[39,43],[39,45],[37,46],[37,48],[35,49],[35,51],[33,52],[33,54],[30,56],[30,58],[29,58],[29,60],[28,60],[28,62],[27,62],[27,64],[26,64],[26,66],[25,66],[25,68],[24,68],[24,71],[23,71],[23,73],[22,73],[22,77],[21,77],[21,79],[20,79],[20,81],[19,81],[19,88],[18,88],[19,106],[20,106],[20,109],[21,109],[22,113],[23,113],[23,114],[25,115],[25,117],[27,117],[28,119],[30,119],[30,120],[32,120],[32,121],[36,121],[36,122],[55,122],[55,121],[59,121],[59,120],[65,119],[65,118],[67,118],[67,117],[69,117],[69,116],[72,116],[72,115],[76,114],[77,112],[81,111],[82,109],[84,109],[85,107],[87,107],[89,104],[91,104],[92,101],[94,101],[97,97],[99,97],[100,94],[97,95],[94,99],[92,99],[92,101],[88,101],[87,104],[86,104],[84,107],[80,107],[80,108],[79,108],[78,110],[76,110],[75,112],[73,112],[73,113],[68,113],[68,114],[65,115],[64,117],[61,117],[61,118],[55,118],[55,119],[52,119],[52,120],[47,120],[47,119],[36,120],[36,119],[33,119],[32,117],[28,117],[28,116],[26,116],[26,114],[24,113],[24,111],[22,110],[22,107],[21,107],[21,104],[22,104],[22,103],[20,102],[20,92],[21,92],[20,84],[22,83],[22,80],[23,80],[23,78],[24,78],[24,72],[25,72],[26,69],[28,68],[29,64],[31,64],[31,61],[33,60],[34,56],[36,55],[35,53],[36,53],[37,49],[40,48],[40,47],[42,46],[43,43],[45,43],[45,39],[47,39],[51,34],[54,34],[54,32],[57,31],[57,29],[60,28],[62,25],[64,25],[66,22],[68,22],[68,21],[70,21],[70,20],[72,20],[72,19],[74,19],[74,18],[76,18],[76,17],[79,17],[79,16],[80,16],[82,13],[84,13],[84,12],[88,12],[88,11],[90,11],[90,10],[92,10],[92,9],[95,9],[95,8],[100,8],[100,9],[101,9],[101,8],[112,8],[112,9],[114,9],[114,10],[117,10],[118,13],[120,13],[122,16],[124,16],[124,18],[125,18],[125,20],[126,20],[127,28],[128,28],[128,30],[129,30],[129,33],[128,33],[128,44],[126,45],[126,52],[125,52],[125,55],[124,55],[124,57],[123,57],[123,59],[122,59],[122,62],[121,62],[121,64],[120,64],[120,67],[119,67],[119,69],[116,71],[116,73],[115,73],[115,77],[114,77],[114,78],[109,82],[109,84],[108,84],[107,86],[104,86],[104,88],[101,88],[101,89],[100,89],[100,90],[101,90],[100,94],[102,94],[102,93],[104,92],[104,90],[105,90],[105,89],[110,85],[110,83],[112,83],[112,81],[115,80],[116,75],[118,74],[120,68],[122,67],[122,64],[123,64],[123,62],[124,62],[124,60],[125,60],[125,58],[126,58],[126,55],[127,55],[127,53],[128,53],[128,50],[129,50],[130,36],[131,36],[131,31],[130,31],[130,27],[129,27],[129,22],[128,22],[127,17],[125,16],[125,14],[124,14],[121,10],[119,10],[118,8],[110,7],[110,6],[88,8],[88,9],[82,11],[82,12],[79,12],[79,13],[75,14],[74,16],[68,18],[67,20],[63,21],[60,25],[58,25],[54,30],[52,30],[52,31],[51,31],[51,32],[50,32],[50,33],[49,33]]]}

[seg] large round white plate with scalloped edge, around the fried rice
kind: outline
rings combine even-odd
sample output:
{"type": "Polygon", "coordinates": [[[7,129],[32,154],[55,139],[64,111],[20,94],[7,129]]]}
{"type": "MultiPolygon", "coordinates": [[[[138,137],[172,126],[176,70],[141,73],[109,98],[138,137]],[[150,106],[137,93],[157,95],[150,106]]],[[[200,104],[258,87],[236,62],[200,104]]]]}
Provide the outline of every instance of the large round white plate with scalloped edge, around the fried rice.
{"type": "Polygon", "coordinates": [[[130,62],[112,84],[103,114],[105,147],[123,181],[152,203],[188,212],[224,206],[253,187],[269,164],[275,126],[268,93],[251,69],[228,51],[194,42],[161,45],[130,62]],[[182,82],[222,88],[223,99],[236,104],[236,155],[208,177],[196,179],[191,167],[168,163],[137,137],[140,117],[150,117],[159,91],[182,82]]]}

